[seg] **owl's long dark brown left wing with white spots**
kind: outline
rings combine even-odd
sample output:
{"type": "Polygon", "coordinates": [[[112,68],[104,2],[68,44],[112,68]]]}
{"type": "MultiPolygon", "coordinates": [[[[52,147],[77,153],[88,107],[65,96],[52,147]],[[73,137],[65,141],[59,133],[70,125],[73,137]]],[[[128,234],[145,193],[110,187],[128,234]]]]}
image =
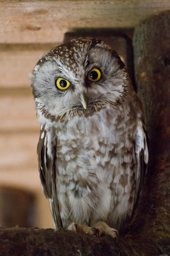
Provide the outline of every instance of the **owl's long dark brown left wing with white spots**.
{"type": "Polygon", "coordinates": [[[41,184],[43,186],[44,194],[49,198],[51,212],[55,227],[62,227],[61,216],[59,212],[59,205],[56,190],[56,135],[54,128],[45,129],[41,125],[39,142],[37,146],[38,162],[39,162],[39,175],[41,184]]]}

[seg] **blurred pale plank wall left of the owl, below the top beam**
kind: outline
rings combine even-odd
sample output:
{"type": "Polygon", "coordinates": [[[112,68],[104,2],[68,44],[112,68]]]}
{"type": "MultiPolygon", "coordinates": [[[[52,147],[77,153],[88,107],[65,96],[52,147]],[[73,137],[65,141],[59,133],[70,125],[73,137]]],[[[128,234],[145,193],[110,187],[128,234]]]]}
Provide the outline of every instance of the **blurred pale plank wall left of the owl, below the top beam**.
{"type": "MultiPolygon", "coordinates": [[[[37,60],[51,47],[53,45],[0,44],[0,186],[3,191],[5,187],[19,188],[21,196],[24,191],[33,194],[35,226],[43,228],[53,227],[53,222],[39,180],[36,153],[39,122],[29,75],[37,60]]],[[[19,194],[16,196],[16,202],[20,201],[19,194]]],[[[31,207],[29,199],[27,207],[31,207]]],[[[15,212],[13,206],[11,214],[15,212]]]]}

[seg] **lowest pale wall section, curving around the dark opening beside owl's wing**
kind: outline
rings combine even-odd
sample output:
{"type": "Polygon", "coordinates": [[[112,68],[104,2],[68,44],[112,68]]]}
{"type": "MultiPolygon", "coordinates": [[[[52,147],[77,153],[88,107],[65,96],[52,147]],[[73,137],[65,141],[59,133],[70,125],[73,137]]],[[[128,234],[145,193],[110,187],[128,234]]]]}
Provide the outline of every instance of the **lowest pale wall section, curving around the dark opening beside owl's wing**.
{"type": "Polygon", "coordinates": [[[54,228],[49,201],[43,194],[39,178],[38,138],[39,133],[0,134],[0,187],[22,189],[34,194],[36,226],[54,228]]]}

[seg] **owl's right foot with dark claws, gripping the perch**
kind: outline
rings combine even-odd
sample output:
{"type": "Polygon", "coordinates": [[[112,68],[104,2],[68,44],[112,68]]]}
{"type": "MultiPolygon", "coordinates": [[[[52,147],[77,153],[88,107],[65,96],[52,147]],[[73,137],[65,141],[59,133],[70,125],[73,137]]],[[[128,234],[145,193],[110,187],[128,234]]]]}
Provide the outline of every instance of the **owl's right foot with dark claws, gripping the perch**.
{"type": "Polygon", "coordinates": [[[111,228],[109,225],[107,225],[106,222],[99,221],[95,223],[94,228],[100,230],[102,232],[102,235],[111,236],[113,238],[116,238],[118,240],[119,238],[119,232],[115,228],[111,228]]]}

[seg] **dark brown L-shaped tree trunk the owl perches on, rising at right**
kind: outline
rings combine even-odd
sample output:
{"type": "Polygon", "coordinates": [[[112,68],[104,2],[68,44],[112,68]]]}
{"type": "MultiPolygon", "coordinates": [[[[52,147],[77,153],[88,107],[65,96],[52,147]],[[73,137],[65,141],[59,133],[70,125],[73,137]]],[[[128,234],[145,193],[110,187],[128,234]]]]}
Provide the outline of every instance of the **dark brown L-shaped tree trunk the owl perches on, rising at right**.
{"type": "Polygon", "coordinates": [[[135,29],[135,77],[150,136],[150,165],[135,217],[119,241],[59,229],[0,229],[0,256],[170,255],[170,12],[135,29]]]}

